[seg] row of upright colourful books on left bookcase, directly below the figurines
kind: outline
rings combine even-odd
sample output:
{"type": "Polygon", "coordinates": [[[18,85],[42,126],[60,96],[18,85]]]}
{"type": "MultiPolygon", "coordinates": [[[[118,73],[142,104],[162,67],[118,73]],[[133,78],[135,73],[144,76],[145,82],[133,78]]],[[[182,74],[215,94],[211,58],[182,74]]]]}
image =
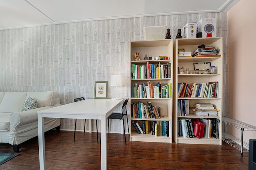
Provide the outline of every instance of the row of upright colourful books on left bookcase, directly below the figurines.
{"type": "Polygon", "coordinates": [[[172,65],[167,64],[150,64],[146,65],[131,64],[131,78],[146,79],[146,78],[171,78],[172,65]]]}

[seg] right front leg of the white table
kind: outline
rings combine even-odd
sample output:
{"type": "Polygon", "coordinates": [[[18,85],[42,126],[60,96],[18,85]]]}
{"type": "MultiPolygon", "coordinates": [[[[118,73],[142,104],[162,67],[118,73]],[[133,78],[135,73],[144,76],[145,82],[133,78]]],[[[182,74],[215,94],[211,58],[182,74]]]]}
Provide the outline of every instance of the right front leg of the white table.
{"type": "Polygon", "coordinates": [[[107,169],[107,136],[106,136],[106,116],[100,119],[100,151],[101,151],[101,169],[107,169]]]}

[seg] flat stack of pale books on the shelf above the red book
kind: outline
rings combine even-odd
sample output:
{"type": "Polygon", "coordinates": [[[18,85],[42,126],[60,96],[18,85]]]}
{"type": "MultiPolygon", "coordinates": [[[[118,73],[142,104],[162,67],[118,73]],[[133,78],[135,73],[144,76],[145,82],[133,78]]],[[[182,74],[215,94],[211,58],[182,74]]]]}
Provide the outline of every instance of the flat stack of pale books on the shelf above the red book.
{"type": "Polygon", "coordinates": [[[218,111],[214,108],[213,104],[210,103],[196,103],[191,108],[195,115],[199,116],[217,116],[218,111]]]}

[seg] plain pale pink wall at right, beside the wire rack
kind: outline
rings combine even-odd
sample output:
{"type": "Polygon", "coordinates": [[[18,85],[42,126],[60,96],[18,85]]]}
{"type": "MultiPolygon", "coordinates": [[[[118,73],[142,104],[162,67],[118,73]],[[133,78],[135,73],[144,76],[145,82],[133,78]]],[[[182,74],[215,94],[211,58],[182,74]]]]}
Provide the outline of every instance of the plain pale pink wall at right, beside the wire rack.
{"type": "MultiPolygon", "coordinates": [[[[256,126],[256,1],[240,0],[228,12],[228,104],[229,117],[256,126]]],[[[241,131],[231,129],[241,137],[241,131]]],[[[245,131],[244,141],[256,139],[256,131],[245,131]]]]}

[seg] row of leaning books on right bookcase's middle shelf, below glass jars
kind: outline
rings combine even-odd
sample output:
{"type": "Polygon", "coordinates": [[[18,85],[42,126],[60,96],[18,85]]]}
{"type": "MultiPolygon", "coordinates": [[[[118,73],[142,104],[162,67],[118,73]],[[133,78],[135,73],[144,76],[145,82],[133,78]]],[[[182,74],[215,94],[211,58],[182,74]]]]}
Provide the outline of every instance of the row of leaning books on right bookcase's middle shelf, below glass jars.
{"type": "Polygon", "coordinates": [[[179,98],[218,98],[219,82],[178,83],[179,98]]]}

